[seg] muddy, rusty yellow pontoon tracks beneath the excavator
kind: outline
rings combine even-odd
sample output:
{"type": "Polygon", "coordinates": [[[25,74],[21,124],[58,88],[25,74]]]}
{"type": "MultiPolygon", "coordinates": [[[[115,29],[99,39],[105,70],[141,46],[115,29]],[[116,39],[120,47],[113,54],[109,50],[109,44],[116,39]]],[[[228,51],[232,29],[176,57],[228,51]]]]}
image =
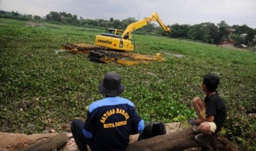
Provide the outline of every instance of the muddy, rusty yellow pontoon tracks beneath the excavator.
{"type": "Polygon", "coordinates": [[[161,54],[153,55],[140,55],[127,52],[119,52],[113,49],[107,49],[90,44],[63,44],[63,49],[70,53],[85,53],[89,54],[88,57],[96,62],[117,62],[123,65],[137,65],[139,63],[148,64],[151,61],[165,61],[161,54]]]}

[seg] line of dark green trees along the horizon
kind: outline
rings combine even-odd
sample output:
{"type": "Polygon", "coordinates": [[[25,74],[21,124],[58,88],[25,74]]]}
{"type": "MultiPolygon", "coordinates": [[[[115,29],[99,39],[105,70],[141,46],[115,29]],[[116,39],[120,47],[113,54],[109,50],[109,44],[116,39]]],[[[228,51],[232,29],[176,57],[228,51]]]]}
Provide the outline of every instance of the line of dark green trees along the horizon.
{"type": "MultiPolygon", "coordinates": [[[[118,20],[110,18],[110,20],[104,19],[84,19],[78,18],[78,15],[73,15],[66,12],[50,11],[45,17],[41,18],[38,15],[22,15],[18,11],[8,12],[0,11],[0,18],[9,18],[25,21],[36,21],[36,22],[50,22],[53,24],[73,25],[81,27],[91,28],[118,28],[125,30],[126,27],[132,22],[137,21],[135,18],[127,18],[124,20],[118,20]]],[[[170,38],[179,39],[191,39],[198,42],[204,42],[209,44],[220,44],[224,40],[231,40],[235,46],[240,47],[241,44],[245,44],[248,47],[255,45],[255,34],[256,28],[250,28],[246,24],[239,25],[228,25],[225,21],[220,21],[217,25],[211,22],[203,22],[195,25],[167,25],[172,28],[170,33],[166,33],[160,26],[156,24],[148,24],[140,28],[138,33],[150,33],[159,34],[170,38]],[[241,36],[244,34],[244,36],[241,36]]]]}

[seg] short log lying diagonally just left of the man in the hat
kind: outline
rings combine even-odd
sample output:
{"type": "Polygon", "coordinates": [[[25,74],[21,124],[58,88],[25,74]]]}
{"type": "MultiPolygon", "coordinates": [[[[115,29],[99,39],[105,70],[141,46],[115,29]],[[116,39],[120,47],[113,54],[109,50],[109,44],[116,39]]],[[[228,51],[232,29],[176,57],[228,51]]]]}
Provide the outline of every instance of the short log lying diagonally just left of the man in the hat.
{"type": "Polygon", "coordinates": [[[38,143],[32,144],[29,147],[23,148],[22,151],[51,151],[55,149],[61,149],[66,146],[68,141],[66,133],[62,133],[60,135],[56,135],[53,137],[49,137],[46,140],[40,141],[38,143]]]}

